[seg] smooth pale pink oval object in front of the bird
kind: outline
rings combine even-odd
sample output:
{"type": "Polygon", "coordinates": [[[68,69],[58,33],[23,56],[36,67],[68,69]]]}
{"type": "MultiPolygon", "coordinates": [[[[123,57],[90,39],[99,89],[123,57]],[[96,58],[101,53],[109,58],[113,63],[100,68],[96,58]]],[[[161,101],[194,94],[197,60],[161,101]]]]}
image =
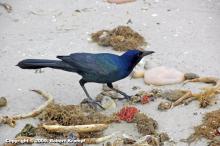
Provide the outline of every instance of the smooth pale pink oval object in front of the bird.
{"type": "Polygon", "coordinates": [[[145,71],[144,81],[152,85],[168,85],[184,81],[184,73],[164,66],[145,71]]]}

